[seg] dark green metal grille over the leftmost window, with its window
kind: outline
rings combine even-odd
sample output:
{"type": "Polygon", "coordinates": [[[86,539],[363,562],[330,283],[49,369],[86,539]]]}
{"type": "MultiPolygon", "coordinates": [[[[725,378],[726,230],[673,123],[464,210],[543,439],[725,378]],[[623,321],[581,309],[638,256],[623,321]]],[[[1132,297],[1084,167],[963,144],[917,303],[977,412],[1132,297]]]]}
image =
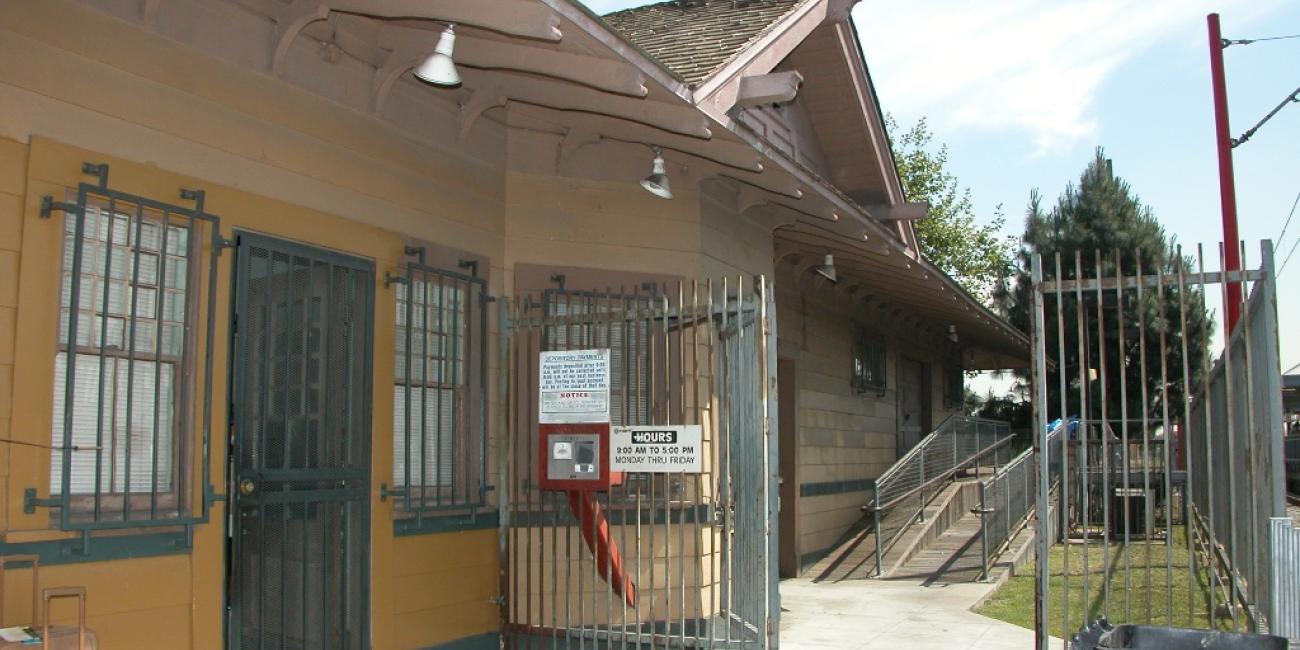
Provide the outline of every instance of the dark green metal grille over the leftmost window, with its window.
{"type": "Polygon", "coordinates": [[[81,530],[205,521],[220,220],[203,212],[202,191],[182,190],[196,204],[186,208],[108,188],[107,165],[83,170],[99,183],[42,207],[65,224],[51,498],[29,488],[25,510],[58,508],[60,526],[81,530]]]}

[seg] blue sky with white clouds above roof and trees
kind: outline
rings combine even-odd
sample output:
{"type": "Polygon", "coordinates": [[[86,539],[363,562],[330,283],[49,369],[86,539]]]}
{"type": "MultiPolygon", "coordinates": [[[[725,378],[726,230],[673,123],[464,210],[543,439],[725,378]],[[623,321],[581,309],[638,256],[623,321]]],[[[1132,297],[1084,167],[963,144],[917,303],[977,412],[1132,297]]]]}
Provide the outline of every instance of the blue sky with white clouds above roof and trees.
{"type": "MultiPolygon", "coordinates": [[[[586,0],[598,13],[647,4],[586,0]]],[[[927,117],[950,170],[1018,235],[1030,190],[1053,202],[1097,146],[1184,246],[1222,239],[1205,14],[1226,38],[1300,34],[1295,0],[867,0],[853,12],[884,109],[927,117]]],[[[1232,134],[1300,86],[1300,39],[1225,52],[1232,134]]],[[[1300,194],[1300,104],[1235,150],[1249,264],[1300,194]]],[[[1300,211],[1297,211],[1300,212],[1300,211]]],[[[1300,213],[1279,242],[1300,240],[1300,213]]],[[[1213,251],[1213,254],[1210,252],[1213,251]]],[[[1300,250],[1279,278],[1282,369],[1300,363],[1300,250]]],[[[1300,370],[1296,370],[1300,372],[1300,370]]]]}

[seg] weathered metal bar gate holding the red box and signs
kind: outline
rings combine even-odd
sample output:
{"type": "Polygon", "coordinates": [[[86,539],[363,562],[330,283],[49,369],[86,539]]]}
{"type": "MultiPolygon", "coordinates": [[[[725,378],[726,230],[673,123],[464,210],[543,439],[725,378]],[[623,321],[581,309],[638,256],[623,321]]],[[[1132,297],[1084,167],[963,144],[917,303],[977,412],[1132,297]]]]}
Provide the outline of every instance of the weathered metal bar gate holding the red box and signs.
{"type": "Polygon", "coordinates": [[[772,306],[762,278],[502,302],[508,647],[776,647],[772,306]],[[540,490],[538,352],[578,348],[611,350],[614,425],[701,425],[703,473],[627,474],[597,494],[603,523],[540,490]],[[619,549],[634,602],[601,577],[614,554],[584,532],[619,549]]]}

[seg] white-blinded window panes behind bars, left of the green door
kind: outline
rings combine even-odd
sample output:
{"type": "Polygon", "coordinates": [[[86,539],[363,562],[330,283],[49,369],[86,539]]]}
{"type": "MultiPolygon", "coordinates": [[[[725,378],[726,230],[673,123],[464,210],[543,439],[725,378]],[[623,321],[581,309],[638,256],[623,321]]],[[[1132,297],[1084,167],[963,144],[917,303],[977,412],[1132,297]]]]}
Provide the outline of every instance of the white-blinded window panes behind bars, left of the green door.
{"type": "Polygon", "coordinates": [[[188,220],[131,212],[86,205],[81,235],[72,216],[64,235],[49,490],[64,490],[70,424],[82,450],[72,454],[69,495],[95,495],[96,508],[103,497],[120,503],[126,494],[174,493],[177,484],[188,220]]]}

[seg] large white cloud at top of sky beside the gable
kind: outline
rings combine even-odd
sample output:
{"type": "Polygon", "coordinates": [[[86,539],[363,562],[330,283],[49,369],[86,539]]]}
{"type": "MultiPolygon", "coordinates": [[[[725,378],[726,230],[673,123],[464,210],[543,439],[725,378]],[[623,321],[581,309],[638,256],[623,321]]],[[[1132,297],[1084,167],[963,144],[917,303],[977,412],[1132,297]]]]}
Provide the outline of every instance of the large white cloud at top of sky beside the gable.
{"type": "Polygon", "coordinates": [[[872,0],[854,21],[885,110],[940,133],[1019,131],[1045,155],[1096,134],[1097,90],[1136,55],[1195,56],[1217,4],[1245,25],[1282,0],[872,0]]]}

